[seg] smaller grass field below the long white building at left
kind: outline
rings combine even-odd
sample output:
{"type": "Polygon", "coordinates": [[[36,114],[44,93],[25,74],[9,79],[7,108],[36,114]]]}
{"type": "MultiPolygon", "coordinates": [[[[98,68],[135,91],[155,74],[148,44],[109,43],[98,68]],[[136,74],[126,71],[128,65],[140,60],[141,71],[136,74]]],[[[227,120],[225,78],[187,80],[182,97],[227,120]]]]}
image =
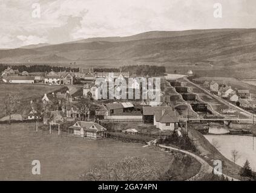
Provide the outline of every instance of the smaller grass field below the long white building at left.
{"type": "MultiPolygon", "coordinates": [[[[6,84],[0,83],[0,109],[4,109],[5,94],[17,94],[19,99],[24,102],[29,102],[38,96],[44,96],[44,93],[50,93],[54,90],[61,89],[63,86],[49,86],[44,84],[6,84]]],[[[4,116],[4,111],[0,112],[0,118],[4,116]]]]}

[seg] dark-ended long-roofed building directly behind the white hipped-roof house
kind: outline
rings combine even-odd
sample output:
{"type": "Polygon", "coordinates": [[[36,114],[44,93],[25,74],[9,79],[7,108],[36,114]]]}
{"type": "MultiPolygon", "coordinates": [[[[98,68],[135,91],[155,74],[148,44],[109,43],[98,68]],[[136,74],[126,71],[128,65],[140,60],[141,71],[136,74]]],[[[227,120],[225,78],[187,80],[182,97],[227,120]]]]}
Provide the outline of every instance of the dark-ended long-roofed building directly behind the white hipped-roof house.
{"type": "Polygon", "coordinates": [[[157,110],[172,110],[170,106],[154,106],[154,107],[142,107],[143,122],[144,123],[154,123],[154,111],[157,110]]]}

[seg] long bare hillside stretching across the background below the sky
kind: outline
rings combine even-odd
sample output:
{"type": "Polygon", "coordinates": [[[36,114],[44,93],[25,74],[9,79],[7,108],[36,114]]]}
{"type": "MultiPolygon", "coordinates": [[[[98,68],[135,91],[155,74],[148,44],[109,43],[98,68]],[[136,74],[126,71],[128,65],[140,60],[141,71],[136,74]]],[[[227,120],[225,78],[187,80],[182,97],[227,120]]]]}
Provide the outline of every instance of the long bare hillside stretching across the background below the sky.
{"type": "Polygon", "coordinates": [[[234,66],[256,62],[256,29],[150,31],[98,37],[37,48],[0,50],[0,62],[67,62],[93,65],[234,66]]]}

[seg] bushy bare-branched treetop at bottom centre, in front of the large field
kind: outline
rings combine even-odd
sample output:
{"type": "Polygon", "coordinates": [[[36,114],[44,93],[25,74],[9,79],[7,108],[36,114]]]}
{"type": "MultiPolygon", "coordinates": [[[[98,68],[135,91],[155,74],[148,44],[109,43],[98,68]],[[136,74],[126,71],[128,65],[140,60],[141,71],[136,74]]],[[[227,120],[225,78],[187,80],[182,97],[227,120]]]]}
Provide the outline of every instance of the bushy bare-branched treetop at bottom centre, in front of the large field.
{"type": "Polygon", "coordinates": [[[151,166],[148,160],[140,157],[125,157],[120,162],[105,164],[82,174],[82,180],[108,181],[144,181],[156,180],[157,169],[151,166]]]}

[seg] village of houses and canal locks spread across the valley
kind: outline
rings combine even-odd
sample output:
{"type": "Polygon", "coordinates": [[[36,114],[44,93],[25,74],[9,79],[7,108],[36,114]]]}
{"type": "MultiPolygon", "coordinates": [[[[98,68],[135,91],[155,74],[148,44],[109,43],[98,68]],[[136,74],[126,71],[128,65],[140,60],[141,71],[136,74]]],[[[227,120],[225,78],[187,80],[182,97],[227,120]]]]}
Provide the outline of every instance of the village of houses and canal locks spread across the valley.
{"type": "MultiPolygon", "coordinates": [[[[203,128],[200,131],[205,132],[209,130],[209,124],[214,122],[214,119],[216,119],[215,122],[228,121],[230,132],[234,131],[231,122],[244,121],[251,124],[254,119],[251,113],[253,113],[252,109],[256,107],[256,101],[252,98],[249,90],[234,89],[216,81],[192,80],[194,81],[192,83],[186,78],[193,77],[191,70],[178,79],[159,77],[161,81],[160,100],[158,101],[143,98],[141,83],[137,82],[139,79],[136,75],[121,70],[120,72],[96,72],[93,68],[79,68],[78,72],[54,72],[51,69],[50,72],[38,72],[36,76],[31,74],[35,73],[19,72],[18,69],[8,67],[2,72],[1,77],[6,84],[47,84],[50,86],[64,85],[65,87],[58,92],[44,93],[42,98],[31,100],[21,114],[16,113],[13,121],[35,121],[36,130],[38,130],[38,122],[42,121],[45,127],[49,128],[50,133],[56,127],[60,132],[61,126],[61,130],[67,128],[68,134],[99,139],[108,136],[107,130],[113,130],[111,128],[113,122],[116,124],[116,128],[122,122],[131,122],[133,127],[126,130],[115,129],[114,131],[121,131],[123,134],[148,135],[150,132],[145,130],[142,132],[141,128],[148,128],[150,125],[153,126],[150,128],[155,131],[153,132],[155,138],[157,136],[166,138],[172,133],[182,136],[181,131],[186,133],[189,123],[208,124],[198,128],[199,130],[203,128]],[[103,98],[103,91],[100,90],[102,87],[97,84],[96,80],[103,78],[107,82],[110,78],[109,74],[116,81],[131,78],[130,86],[125,88],[124,95],[127,97],[120,97],[120,95],[111,97],[111,92],[108,90],[107,98],[103,98]],[[75,84],[75,81],[79,81],[79,84],[75,84]],[[198,88],[191,87],[189,82],[195,84],[196,87],[201,87],[202,90],[205,89],[206,94],[197,93],[198,88]],[[131,92],[133,93],[131,94],[131,92]],[[139,98],[134,97],[136,92],[140,93],[139,98]],[[132,98],[129,98],[128,95],[131,95],[132,98]],[[223,109],[215,109],[211,101],[208,101],[209,97],[216,97],[218,102],[223,103],[223,109]],[[141,128],[137,125],[140,125],[141,128]]],[[[149,75],[146,75],[146,79],[148,78],[150,78],[149,75]]],[[[104,85],[110,89],[110,83],[104,85]]],[[[156,87],[156,85],[154,86],[156,87]]],[[[118,85],[115,85],[114,89],[117,88],[118,85]]],[[[120,91],[122,90],[119,89],[120,91]]],[[[7,119],[8,116],[0,121],[7,119]]],[[[110,135],[110,133],[108,134],[110,135]]]]}

